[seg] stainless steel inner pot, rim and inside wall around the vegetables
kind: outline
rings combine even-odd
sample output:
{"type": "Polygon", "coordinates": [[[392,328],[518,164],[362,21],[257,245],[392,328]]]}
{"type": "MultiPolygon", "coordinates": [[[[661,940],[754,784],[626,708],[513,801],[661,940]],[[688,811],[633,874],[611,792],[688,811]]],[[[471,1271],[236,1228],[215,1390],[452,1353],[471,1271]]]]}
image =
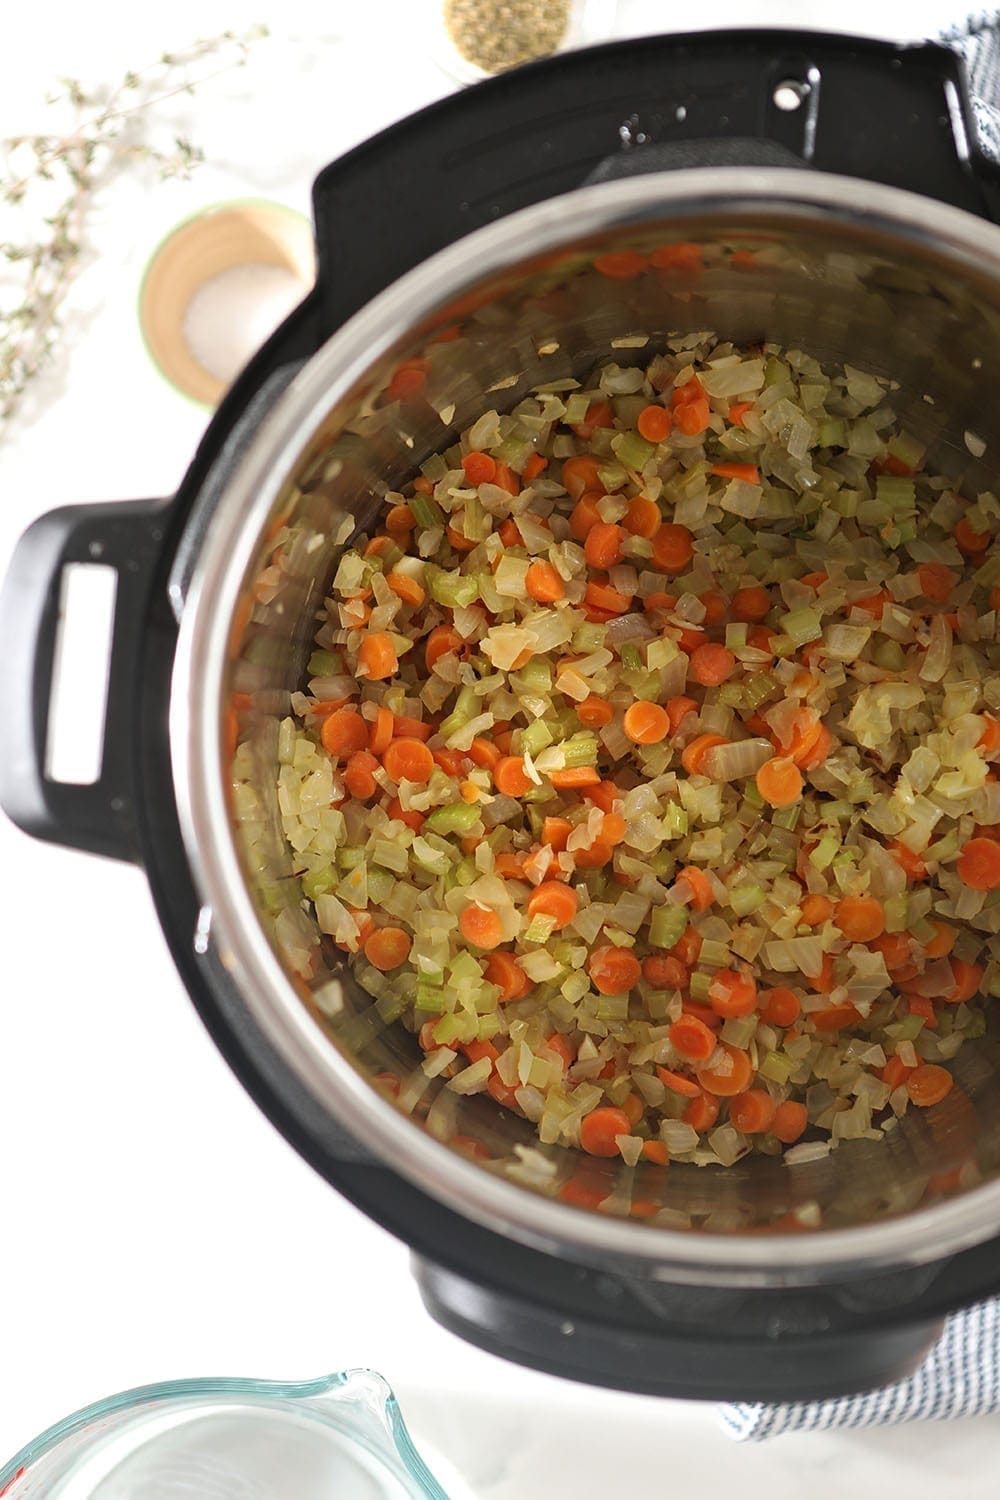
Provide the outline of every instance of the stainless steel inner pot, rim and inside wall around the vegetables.
{"type": "Polygon", "coordinates": [[[906,424],[975,494],[991,483],[1000,442],[999,327],[1000,231],[969,214],[805,171],[667,172],[583,188],[453,244],[336,333],[262,420],[184,580],[171,698],[175,794],[202,927],[249,1012],[303,1089],[396,1172],[501,1234],[669,1278],[819,1281],[928,1262],[1000,1230],[999,1050],[988,1038],[958,1054],[960,1088],[936,1110],[913,1110],[886,1138],[844,1143],[823,1161],[633,1172],[544,1148],[547,1174],[534,1179],[516,1154],[535,1143],[532,1126],[489,1096],[459,1098],[427,1080],[411,1112],[393,1104],[372,1077],[411,1076],[415,1038],[382,1023],[319,948],[309,984],[294,978],[274,936],[280,914],[282,932],[313,936],[277,814],[277,724],[301,684],[345,516],[363,528],[385,489],[489,405],[510,408],[531,387],[601,358],[645,363],[658,340],[697,328],[891,375],[906,424]],[[678,240],[705,246],[694,282],[615,280],[592,268],[609,249],[678,240]],[[754,249],[751,268],[720,254],[735,244],[754,249]],[[456,324],[459,338],[435,342],[456,324]],[[649,344],[613,348],[634,333],[649,344]],[[426,400],[379,399],[414,357],[429,364],[426,400]],[[987,444],[979,462],[967,432],[987,444]],[[253,580],[270,561],[276,518],[295,524],[297,540],[280,560],[280,588],[261,603],[253,580]],[[258,808],[240,836],[225,748],[232,690],[253,702],[243,723],[258,808]],[[480,1143],[483,1158],[448,1146],[454,1134],[480,1143]],[[582,1162],[595,1196],[609,1194],[600,1212],[558,1197],[582,1162]],[[936,1180],[943,1173],[961,1173],[949,1194],[936,1180]],[[634,1197],[667,1212],[639,1222],[628,1216],[634,1197]],[[823,1228],[781,1233],[802,1203],[819,1204],[823,1228]]]}

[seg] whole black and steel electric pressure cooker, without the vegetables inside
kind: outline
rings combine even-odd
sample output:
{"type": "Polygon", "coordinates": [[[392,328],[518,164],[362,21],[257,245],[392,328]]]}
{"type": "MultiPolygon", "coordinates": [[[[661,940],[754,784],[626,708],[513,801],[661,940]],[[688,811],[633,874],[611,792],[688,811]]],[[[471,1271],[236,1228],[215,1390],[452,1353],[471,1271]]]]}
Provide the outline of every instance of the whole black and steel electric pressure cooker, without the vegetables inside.
{"type": "Polygon", "coordinates": [[[280,832],[277,724],[337,548],[486,406],[601,358],[646,363],[658,338],[699,328],[892,375],[939,470],[987,488],[999,213],[946,50],[747,32],[550,58],[325,168],[316,286],[232,386],[178,494],[52,512],[15,554],[3,806],[37,837],[144,866],[246,1088],[412,1246],[432,1314],[483,1348],[672,1396],[808,1400],[901,1377],[951,1310],[1000,1288],[1000,1048],[966,1047],[961,1088],[885,1138],[795,1166],[531,1149],[529,1124],[489,1096],[421,1083],[415,1040],[336,950],[307,984],[286,963],[310,920],[280,832]],[[702,274],[594,270],[664,242],[700,244],[702,274]],[[420,388],[390,399],[400,366],[420,388]],[[291,540],[273,558],[276,536],[291,540]],[[73,562],[114,567],[118,588],[91,786],[45,774],[73,562]],[[234,730],[252,747],[249,808],[231,800],[234,730]],[[375,1082],[387,1071],[408,1080],[400,1100],[375,1082]],[[804,1208],[819,1227],[802,1230],[804,1208]]]}

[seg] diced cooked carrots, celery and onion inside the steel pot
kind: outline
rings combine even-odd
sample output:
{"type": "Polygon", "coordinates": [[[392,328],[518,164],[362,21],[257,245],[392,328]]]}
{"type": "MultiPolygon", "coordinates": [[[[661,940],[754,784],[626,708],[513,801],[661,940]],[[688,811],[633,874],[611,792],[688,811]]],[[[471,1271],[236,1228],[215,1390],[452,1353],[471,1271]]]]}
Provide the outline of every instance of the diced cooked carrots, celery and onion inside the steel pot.
{"type": "Polygon", "coordinates": [[[424,1074],[630,1164],[948,1095],[1000,993],[1000,501],[924,464],[891,381],[705,333],[384,496],[279,800],[424,1074]]]}

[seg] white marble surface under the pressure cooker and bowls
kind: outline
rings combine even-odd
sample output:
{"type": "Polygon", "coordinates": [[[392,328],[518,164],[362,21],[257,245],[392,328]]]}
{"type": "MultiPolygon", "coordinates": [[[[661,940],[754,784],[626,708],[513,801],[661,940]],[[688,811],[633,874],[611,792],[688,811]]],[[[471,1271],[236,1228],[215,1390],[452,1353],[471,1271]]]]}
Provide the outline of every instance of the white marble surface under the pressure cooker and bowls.
{"type": "MultiPolygon", "coordinates": [[[[162,231],[223,196],[306,207],[313,172],[444,93],[426,0],[172,0],[4,8],[0,134],[51,78],[100,81],[247,20],[274,33],[250,66],[172,120],[210,164],[187,184],[115,182],[96,208],[69,336],[0,450],[0,568],[33,516],[73,500],[169,494],[204,428],[148,366],[135,326],[162,231]]],[[[675,8],[625,0],[619,32],[675,8]]],[[[747,24],[709,0],[705,26],[747,24]]],[[[930,0],[841,0],[840,30],[915,38],[930,0]]],[[[757,0],[754,24],[829,22],[757,0]]],[[[996,1494],[1000,1420],[738,1448],[708,1407],[591,1392],[517,1371],[438,1329],[405,1250],[330,1191],[229,1074],[174,975],[142,876],[40,846],[0,819],[0,1458],[76,1406],[195,1374],[382,1370],[414,1428],[483,1500],[688,1494],[909,1500],[996,1494]]]]}

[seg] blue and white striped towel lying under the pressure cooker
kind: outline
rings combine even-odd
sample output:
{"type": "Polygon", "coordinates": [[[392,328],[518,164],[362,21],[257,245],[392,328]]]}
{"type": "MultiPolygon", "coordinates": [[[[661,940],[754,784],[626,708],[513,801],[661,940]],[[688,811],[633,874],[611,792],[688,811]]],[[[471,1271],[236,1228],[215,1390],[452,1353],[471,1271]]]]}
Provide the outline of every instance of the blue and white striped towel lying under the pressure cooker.
{"type": "MultiPolygon", "coordinates": [[[[966,63],[984,152],[1000,160],[1000,12],[970,16],[942,36],[966,63]]],[[[1000,1299],[954,1312],[922,1365],[895,1386],[837,1401],[738,1402],[721,1407],[739,1443],[781,1432],[888,1426],[1000,1412],[1000,1299]]]]}

